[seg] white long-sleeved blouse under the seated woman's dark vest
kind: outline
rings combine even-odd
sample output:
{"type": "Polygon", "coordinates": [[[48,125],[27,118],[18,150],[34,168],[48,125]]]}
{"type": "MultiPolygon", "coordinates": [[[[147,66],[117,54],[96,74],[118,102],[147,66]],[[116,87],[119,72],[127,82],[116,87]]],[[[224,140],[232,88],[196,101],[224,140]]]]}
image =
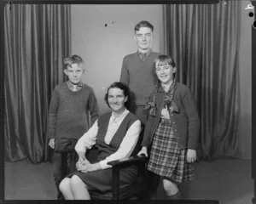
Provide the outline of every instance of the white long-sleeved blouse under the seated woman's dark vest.
{"type": "MultiPolygon", "coordinates": [[[[108,131],[105,136],[105,142],[110,144],[113,139],[113,135],[118,130],[121,122],[125,119],[125,116],[129,113],[128,110],[125,109],[123,114],[119,117],[114,117],[113,113],[108,122],[108,131]]],[[[98,133],[98,121],[96,121],[90,129],[84,133],[84,135],[79,139],[78,143],[75,146],[75,150],[77,152],[82,151],[85,154],[86,149],[90,149],[94,144],[96,144],[96,135],[98,133]]],[[[141,132],[141,122],[137,120],[133,122],[131,127],[127,130],[123,141],[119,146],[119,150],[117,150],[112,155],[106,157],[104,160],[100,161],[100,165],[102,169],[111,167],[108,165],[108,161],[114,161],[123,159],[125,157],[131,156],[132,150],[134,150],[139,134],[141,132]]]]}

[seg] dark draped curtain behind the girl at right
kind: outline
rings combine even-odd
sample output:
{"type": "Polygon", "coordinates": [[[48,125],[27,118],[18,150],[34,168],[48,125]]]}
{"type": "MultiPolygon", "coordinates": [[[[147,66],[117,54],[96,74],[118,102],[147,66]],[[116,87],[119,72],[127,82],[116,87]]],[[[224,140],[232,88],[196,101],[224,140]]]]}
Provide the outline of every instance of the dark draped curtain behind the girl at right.
{"type": "Polygon", "coordinates": [[[239,156],[241,2],[164,5],[166,54],[177,62],[201,116],[200,156],[239,156]]]}

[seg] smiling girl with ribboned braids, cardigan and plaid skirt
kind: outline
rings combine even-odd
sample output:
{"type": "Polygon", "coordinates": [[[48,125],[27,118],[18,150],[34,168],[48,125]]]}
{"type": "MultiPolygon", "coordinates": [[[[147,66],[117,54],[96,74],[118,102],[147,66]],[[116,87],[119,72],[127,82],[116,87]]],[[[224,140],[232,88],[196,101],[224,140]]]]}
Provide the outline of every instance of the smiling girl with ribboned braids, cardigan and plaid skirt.
{"type": "Polygon", "coordinates": [[[170,199],[180,196],[177,184],[194,179],[191,165],[196,160],[199,116],[189,88],[176,81],[174,61],[167,55],[155,59],[157,85],[146,105],[148,121],[143,134],[142,150],[148,156],[148,171],[163,178],[170,199]]]}

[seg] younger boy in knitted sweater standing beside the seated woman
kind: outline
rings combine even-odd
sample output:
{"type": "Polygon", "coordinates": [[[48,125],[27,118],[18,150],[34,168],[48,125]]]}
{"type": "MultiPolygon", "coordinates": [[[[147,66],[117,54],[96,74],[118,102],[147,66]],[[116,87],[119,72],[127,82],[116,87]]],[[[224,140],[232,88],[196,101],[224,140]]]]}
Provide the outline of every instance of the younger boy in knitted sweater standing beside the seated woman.
{"type": "MultiPolygon", "coordinates": [[[[74,147],[77,140],[90,128],[90,124],[98,118],[94,91],[81,82],[84,75],[83,59],[73,55],[63,62],[68,81],[55,87],[49,105],[48,139],[50,148],[54,150],[63,150],[67,145],[74,147]]],[[[54,151],[52,160],[58,199],[61,199],[58,187],[65,176],[61,174],[61,154],[54,151]]],[[[74,160],[74,156],[68,158],[70,168],[75,167],[74,160]]]]}

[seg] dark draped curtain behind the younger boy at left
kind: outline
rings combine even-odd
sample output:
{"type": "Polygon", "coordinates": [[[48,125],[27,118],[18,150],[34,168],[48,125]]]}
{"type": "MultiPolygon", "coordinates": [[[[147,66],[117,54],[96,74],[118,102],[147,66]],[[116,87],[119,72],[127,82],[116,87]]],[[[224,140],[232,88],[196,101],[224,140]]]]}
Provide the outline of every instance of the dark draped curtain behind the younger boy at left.
{"type": "Polygon", "coordinates": [[[14,4],[4,9],[5,160],[48,157],[50,95],[70,53],[70,6],[14,4]]]}

